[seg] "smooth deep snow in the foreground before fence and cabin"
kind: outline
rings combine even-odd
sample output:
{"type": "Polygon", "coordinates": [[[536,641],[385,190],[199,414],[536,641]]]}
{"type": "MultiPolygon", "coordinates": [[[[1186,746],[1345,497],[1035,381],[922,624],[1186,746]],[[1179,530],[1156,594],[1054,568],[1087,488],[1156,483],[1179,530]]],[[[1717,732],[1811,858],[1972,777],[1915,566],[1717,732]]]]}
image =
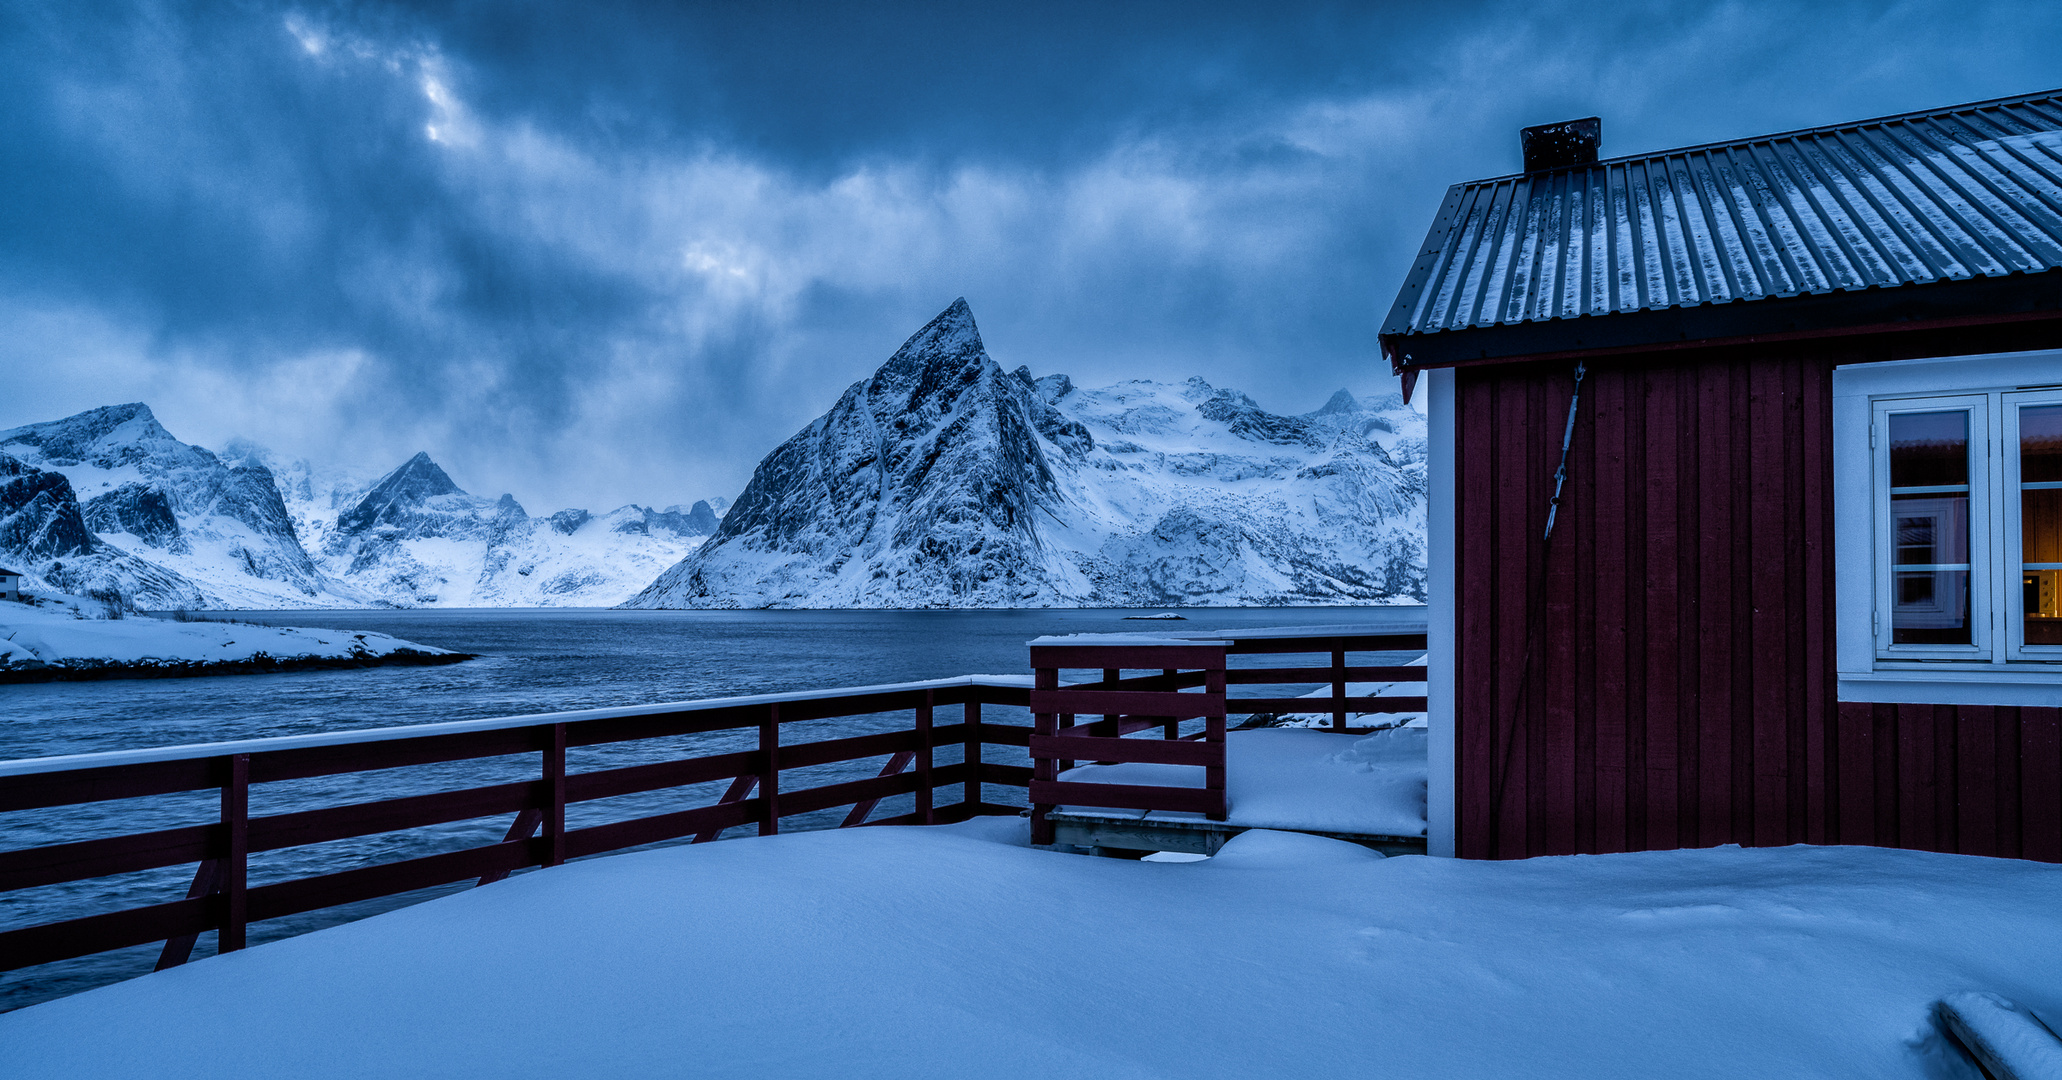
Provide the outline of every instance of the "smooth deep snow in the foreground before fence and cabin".
{"type": "Polygon", "coordinates": [[[1245,833],[1186,864],[1021,818],[524,874],[0,1016],[12,1076],[1977,1080],[2062,1020],[2062,868],[1862,847],[1507,864],[1245,833]]]}

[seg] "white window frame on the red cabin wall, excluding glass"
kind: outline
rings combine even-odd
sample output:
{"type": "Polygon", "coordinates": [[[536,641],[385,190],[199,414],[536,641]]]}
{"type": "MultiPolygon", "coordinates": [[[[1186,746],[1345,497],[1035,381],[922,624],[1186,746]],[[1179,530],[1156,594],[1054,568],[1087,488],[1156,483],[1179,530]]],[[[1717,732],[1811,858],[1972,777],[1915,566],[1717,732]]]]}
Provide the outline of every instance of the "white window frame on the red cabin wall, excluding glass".
{"type": "Polygon", "coordinates": [[[2062,705],[2062,647],[2017,618],[2019,404],[2062,402],[2062,350],[1833,369],[1835,668],[1841,701],[2062,705]],[[1967,408],[1971,645],[1891,641],[1891,412],[1967,408]]]}

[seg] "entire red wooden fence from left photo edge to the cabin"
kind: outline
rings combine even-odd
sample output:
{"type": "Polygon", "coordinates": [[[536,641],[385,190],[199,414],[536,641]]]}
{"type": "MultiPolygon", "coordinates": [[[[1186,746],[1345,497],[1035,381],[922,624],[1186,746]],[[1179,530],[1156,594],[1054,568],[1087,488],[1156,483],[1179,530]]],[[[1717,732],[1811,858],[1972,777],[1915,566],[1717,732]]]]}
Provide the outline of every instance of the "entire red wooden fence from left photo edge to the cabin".
{"type": "MultiPolygon", "coordinates": [[[[1122,678],[1134,657],[1097,653],[1091,668],[1111,668],[1101,682],[1062,686],[1060,668],[1076,657],[1062,651],[1037,653],[1037,690],[1023,680],[965,676],[893,686],[860,686],[742,699],[594,709],[452,723],[423,723],[377,732],[334,732],[161,750],[118,750],[60,758],[0,763],[0,814],[85,806],[105,800],[219,791],[221,812],[204,824],[184,824],[72,843],[0,851],[0,892],[85,882],[140,870],[196,866],[184,899],[103,911],[39,925],[0,930],[0,971],[14,971],[113,948],[163,942],[159,969],[186,963],[196,938],[219,934],[219,948],[245,946],[256,921],[299,915],[431,886],[476,880],[491,884],[516,870],[559,866],[567,859],[680,841],[703,843],[726,829],[755,826],[759,835],[779,831],[786,816],[817,814],[850,806],[843,826],[858,824],[942,824],[977,814],[1019,814],[1019,806],[984,800],[984,785],[1029,787],[1031,798],[1052,802],[1074,798],[1050,775],[1062,758],[1169,761],[1210,769],[1204,808],[1223,814],[1223,728],[1225,711],[1316,711],[1330,709],[1334,725],[1349,711],[1423,711],[1423,699],[1349,699],[1346,682],[1423,678],[1423,668],[1346,668],[1346,651],[1423,649],[1425,635],[1309,637],[1272,635],[1198,645],[1215,666],[1192,664],[1188,653],[1153,653],[1149,668],[1159,674],[1122,678]],[[1328,668],[1225,670],[1225,653],[1241,651],[1330,651],[1328,668]],[[1313,682],[1332,688],[1330,699],[1227,699],[1225,682],[1313,682]],[[1202,686],[1204,693],[1179,693],[1202,686]],[[1062,697],[1052,697],[1052,695],[1062,697]],[[1066,697],[1074,695],[1074,697],[1066,697]],[[1138,695],[1138,697],[1134,697],[1138,695]],[[1151,701],[1144,697],[1151,695],[1151,701]],[[1179,699],[1179,701],[1173,701],[1179,699]],[[1194,703],[1190,699],[1196,699],[1194,703]],[[984,719],[982,707],[1033,707],[1041,723],[1033,728],[984,719]],[[936,709],[959,709],[953,723],[938,723],[936,709]],[[786,742],[781,728],[796,721],[911,713],[907,730],[786,742]],[[1101,711],[1105,717],[1074,725],[1070,713],[1101,711]],[[1165,740],[1126,740],[1151,715],[1165,740]],[[1060,728],[1066,717],[1066,728],[1060,728]],[[1179,721],[1204,717],[1206,732],[1184,740],[1179,721]],[[705,732],[757,732],[751,750],[703,752],[596,771],[569,771],[567,750],[633,744],[705,732]],[[988,746],[1033,752],[1033,767],[984,761],[988,746]],[[959,758],[938,765],[938,748],[959,748],[959,758]],[[423,796],[322,806],[282,814],[252,816],[254,785],[309,777],[340,777],[377,769],[404,769],[507,754],[538,754],[534,779],[489,783],[423,796]],[[1212,756],[1215,754],[1215,756],[1212,756]],[[814,787],[788,789],[781,775],[887,756],[880,775],[814,787]],[[683,806],[631,820],[567,829],[567,806],[641,791],[728,781],[724,794],[703,806],[683,806]],[[938,791],[957,800],[940,804],[938,791]],[[885,798],[913,796],[913,810],[893,818],[872,818],[885,798]],[[431,824],[509,816],[499,843],[431,855],[355,866],[315,876],[252,886],[250,857],[303,845],[371,837],[431,824]]],[[[1087,787],[1087,785],[1078,785],[1087,787]]],[[[1116,785],[1091,791],[1101,804],[1122,798],[1116,785]]],[[[1159,789],[1177,791],[1177,789],[1159,789]]],[[[683,796],[685,798],[685,796],[683,796]]],[[[1161,798],[1161,796],[1153,796],[1161,798]]],[[[1194,789],[1186,796],[1196,798],[1194,789]]],[[[1165,802],[1165,800],[1163,800],[1165,802]]],[[[1118,802],[1118,806],[1124,806],[1118,802]]],[[[1200,806],[1200,802],[1198,802],[1200,806]]],[[[4,818],[0,818],[4,822],[4,818]]]]}

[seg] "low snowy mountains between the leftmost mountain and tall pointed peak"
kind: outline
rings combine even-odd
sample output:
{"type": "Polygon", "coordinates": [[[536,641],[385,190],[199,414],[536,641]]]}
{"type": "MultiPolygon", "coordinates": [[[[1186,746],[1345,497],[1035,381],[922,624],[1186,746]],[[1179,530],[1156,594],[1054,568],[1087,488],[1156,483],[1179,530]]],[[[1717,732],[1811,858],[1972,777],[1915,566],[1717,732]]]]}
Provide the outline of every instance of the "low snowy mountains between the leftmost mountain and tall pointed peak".
{"type": "MultiPolygon", "coordinates": [[[[301,476],[307,470],[295,470],[301,476]]],[[[346,480],[289,482],[295,517],[307,521],[311,538],[322,536],[315,561],[332,579],[394,606],[617,604],[718,524],[707,503],[689,511],[629,505],[600,517],[584,509],[530,517],[513,495],[466,493],[429,453],[340,503],[346,488],[346,480]]]]}

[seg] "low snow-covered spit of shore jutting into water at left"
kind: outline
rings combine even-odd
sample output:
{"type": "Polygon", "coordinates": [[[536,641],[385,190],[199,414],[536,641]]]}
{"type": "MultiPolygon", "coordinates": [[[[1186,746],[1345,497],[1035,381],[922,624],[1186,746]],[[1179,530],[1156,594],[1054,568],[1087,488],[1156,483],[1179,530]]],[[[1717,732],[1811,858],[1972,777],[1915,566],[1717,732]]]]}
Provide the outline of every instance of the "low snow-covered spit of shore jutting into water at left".
{"type": "Polygon", "coordinates": [[[0,682],[167,678],[470,660],[384,633],[107,618],[97,600],[0,602],[0,682]]]}

